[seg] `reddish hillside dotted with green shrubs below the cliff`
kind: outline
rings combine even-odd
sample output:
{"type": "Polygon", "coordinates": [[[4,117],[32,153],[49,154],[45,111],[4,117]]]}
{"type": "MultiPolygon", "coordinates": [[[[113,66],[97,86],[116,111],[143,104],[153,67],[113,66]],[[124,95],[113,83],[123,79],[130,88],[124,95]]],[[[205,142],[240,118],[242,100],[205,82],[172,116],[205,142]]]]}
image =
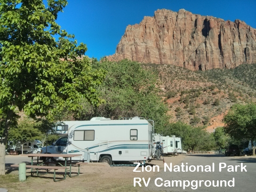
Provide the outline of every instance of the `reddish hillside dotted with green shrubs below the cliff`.
{"type": "Polygon", "coordinates": [[[158,73],[158,94],[169,107],[170,122],[206,125],[213,132],[223,126],[223,115],[234,103],[256,101],[256,65],[197,72],[171,65],[143,67],[158,73]]]}

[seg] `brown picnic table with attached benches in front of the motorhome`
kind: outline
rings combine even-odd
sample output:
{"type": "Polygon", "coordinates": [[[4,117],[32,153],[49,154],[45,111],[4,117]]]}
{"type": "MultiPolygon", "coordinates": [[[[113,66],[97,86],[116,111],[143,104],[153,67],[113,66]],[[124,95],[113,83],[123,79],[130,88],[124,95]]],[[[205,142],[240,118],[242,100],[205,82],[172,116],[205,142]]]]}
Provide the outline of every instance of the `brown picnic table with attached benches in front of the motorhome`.
{"type": "MultiPolygon", "coordinates": [[[[31,165],[27,165],[28,168],[31,168],[31,176],[32,176],[32,173],[33,173],[33,168],[37,170],[36,171],[37,175],[39,175],[38,174],[38,169],[47,169],[47,173],[48,173],[48,169],[54,169],[54,178],[53,178],[53,180],[54,181],[61,181],[61,180],[66,179],[67,164],[69,164],[69,177],[74,177],[74,176],[79,175],[79,165],[85,164],[85,163],[77,163],[77,165],[78,165],[78,172],[77,172],[76,175],[72,176],[71,175],[71,165],[72,165],[71,158],[72,157],[76,157],[76,156],[81,156],[81,155],[82,154],[23,154],[21,156],[31,157],[31,165]],[[33,165],[33,157],[37,157],[37,165],[33,165]],[[44,161],[42,163],[40,162],[40,164],[39,164],[39,157],[46,157],[46,158],[44,158],[44,161]],[[47,161],[51,157],[63,157],[63,158],[65,158],[65,165],[62,165],[61,163],[56,161],[56,162],[52,162],[52,163],[60,165],[60,166],[50,166],[49,162],[47,162],[47,161]],[[67,160],[67,158],[69,158],[69,159],[67,160]],[[47,166],[43,165],[45,163],[47,164],[47,166]],[[55,170],[58,170],[58,169],[65,169],[65,175],[64,175],[64,177],[62,179],[56,180],[55,179],[55,170]]],[[[11,166],[14,166],[14,165],[11,165],[11,166]]]]}

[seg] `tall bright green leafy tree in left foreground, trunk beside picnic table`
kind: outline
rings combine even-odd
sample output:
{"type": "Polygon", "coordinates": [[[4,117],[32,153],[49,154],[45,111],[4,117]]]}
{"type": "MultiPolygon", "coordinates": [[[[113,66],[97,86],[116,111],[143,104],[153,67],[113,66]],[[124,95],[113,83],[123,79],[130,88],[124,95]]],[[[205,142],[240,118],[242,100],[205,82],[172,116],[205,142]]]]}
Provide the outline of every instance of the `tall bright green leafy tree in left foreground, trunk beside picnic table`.
{"type": "Polygon", "coordinates": [[[83,98],[92,105],[102,102],[97,86],[105,71],[93,70],[89,58],[82,57],[86,45],[77,45],[74,35],[55,22],[66,5],[66,0],[48,0],[47,8],[42,0],[0,1],[0,114],[5,116],[0,175],[5,174],[9,128],[19,117],[15,109],[53,120],[64,108],[76,113],[83,98]]]}

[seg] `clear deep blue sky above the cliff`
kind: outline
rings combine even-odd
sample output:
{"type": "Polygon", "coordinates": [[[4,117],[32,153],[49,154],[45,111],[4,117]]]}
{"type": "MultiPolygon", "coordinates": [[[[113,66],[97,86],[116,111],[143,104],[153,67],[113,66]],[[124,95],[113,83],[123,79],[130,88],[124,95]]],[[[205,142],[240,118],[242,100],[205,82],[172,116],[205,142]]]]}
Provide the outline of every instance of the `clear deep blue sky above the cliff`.
{"type": "Polygon", "coordinates": [[[153,17],[157,9],[240,19],[256,28],[256,0],[69,0],[57,23],[74,34],[78,43],[87,45],[86,55],[100,59],[115,53],[127,25],[140,23],[144,16],[153,17]]]}

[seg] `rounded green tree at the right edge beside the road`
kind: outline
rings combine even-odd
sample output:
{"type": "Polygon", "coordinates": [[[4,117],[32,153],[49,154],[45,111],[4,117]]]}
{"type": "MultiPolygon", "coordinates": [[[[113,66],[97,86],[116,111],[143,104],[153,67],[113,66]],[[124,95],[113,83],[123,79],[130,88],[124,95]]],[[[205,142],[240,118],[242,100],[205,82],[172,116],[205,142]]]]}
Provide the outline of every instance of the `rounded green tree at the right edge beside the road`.
{"type": "MultiPolygon", "coordinates": [[[[223,118],[224,132],[236,140],[256,139],[256,104],[235,104],[223,118]]],[[[254,155],[253,147],[253,155],[254,155]]]]}

